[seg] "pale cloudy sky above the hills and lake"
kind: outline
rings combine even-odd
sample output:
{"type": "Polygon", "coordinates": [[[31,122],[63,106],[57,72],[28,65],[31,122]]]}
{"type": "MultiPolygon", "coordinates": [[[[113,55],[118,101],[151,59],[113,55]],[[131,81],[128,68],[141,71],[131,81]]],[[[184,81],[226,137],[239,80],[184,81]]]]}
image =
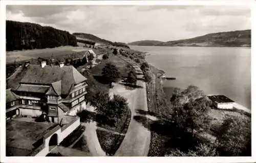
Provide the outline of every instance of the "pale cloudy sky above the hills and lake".
{"type": "Polygon", "coordinates": [[[7,6],[7,20],[119,42],[172,41],[251,29],[248,6],[7,6]]]}

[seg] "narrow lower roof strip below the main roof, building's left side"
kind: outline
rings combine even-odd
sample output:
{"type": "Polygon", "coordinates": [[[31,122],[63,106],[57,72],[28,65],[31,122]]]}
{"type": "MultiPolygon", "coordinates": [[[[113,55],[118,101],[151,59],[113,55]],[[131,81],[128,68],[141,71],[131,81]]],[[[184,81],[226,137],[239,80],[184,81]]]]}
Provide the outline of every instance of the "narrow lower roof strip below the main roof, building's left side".
{"type": "Polygon", "coordinates": [[[32,85],[32,84],[20,84],[16,90],[17,91],[28,91],[28,92],[39,92],[45,93],[50,86],[46,85],[32,85]]]}

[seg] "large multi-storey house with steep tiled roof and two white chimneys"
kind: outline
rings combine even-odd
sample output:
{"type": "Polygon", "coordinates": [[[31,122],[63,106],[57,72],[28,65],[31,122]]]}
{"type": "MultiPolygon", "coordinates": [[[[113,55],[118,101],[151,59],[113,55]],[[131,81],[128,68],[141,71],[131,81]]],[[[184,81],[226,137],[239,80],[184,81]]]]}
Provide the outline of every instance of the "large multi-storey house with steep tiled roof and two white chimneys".
{"type": "Polygon", "coordinates": [[[14,113],[34,117],[45,114],[51,122],[60,123],[65,115],[86,109],[86,80],[72,65],[27,62],[7,79],[7,96],[12,98],[6,102],[15,99],[13,106],[7,105],[7,118],[14,113]],[[8,109],[12,113],[8,114],[8,109]]]}

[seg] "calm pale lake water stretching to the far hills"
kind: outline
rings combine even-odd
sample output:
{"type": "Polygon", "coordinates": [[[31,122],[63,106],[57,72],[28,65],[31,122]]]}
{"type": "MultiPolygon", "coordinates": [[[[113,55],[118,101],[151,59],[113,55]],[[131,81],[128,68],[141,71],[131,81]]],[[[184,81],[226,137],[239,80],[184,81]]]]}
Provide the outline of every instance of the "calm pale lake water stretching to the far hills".
{"type": "Polygon", "coordinates": [[[251,108],[251,49],[215,47],[131,46],[148,52],[148,63],[163,69],[169,99],[175,87],[196,85],[205,94],[221,94],[251,108]]]}

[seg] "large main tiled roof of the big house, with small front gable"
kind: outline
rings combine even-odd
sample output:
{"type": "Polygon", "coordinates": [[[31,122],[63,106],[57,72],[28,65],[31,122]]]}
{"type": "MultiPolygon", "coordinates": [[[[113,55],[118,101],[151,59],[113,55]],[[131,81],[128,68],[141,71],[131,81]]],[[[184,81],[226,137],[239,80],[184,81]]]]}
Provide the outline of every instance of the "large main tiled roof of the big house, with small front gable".
{"type": "Polygon", "coordinates": [[[53,86],[55,92],[61,95],[68,95],[74,84],[86,81],[87,78],[82,76],[73,66],[46,65],[29,65],[20,73],[16,73],[8,80],[8,85],[14,89],[20,83],[26,84],[44,84],[53,86]]]}

